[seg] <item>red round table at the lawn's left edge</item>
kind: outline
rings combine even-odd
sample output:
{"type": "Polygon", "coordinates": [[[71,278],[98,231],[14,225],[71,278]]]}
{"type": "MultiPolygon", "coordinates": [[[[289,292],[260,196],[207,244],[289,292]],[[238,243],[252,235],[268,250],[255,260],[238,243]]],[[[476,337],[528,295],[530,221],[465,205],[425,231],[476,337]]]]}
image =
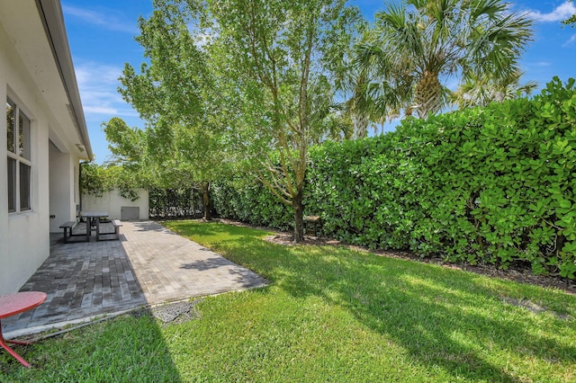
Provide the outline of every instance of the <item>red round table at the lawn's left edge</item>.
{"type": "MultiPolygon", "coordinates": [[[[15,316],[24,311],[30,310],[31,308],[40,306],[45,300],[46,293],[40,291],[24,291],[8,295],[0,295],[0,319],[8,316],[15,316]]],[[[5,340],[4,335],[2,334],[2,323],[0,322],[0,346],[20,361],[25,367],[30,367],[30,363],[24,361],[23,357],[14,352],[14,350],[8,347],[8,344],[6,343],[31,344],[31,342],[5,340]]]]}

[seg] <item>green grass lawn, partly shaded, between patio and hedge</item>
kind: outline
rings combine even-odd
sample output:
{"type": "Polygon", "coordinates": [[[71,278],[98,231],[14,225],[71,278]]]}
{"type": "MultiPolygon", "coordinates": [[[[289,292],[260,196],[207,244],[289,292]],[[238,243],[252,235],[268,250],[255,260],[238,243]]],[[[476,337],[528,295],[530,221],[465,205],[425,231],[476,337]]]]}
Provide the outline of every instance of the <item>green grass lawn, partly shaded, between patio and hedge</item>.
{"type": "Polygon", "coordinates": [[[270,286],[205,298],[180,325],[122,316],[18,348],[31,370],[1,352],[0,381],[576,381],[576,297],[563,291],[269,244],[246,227],[166,226],[270,286]]]}

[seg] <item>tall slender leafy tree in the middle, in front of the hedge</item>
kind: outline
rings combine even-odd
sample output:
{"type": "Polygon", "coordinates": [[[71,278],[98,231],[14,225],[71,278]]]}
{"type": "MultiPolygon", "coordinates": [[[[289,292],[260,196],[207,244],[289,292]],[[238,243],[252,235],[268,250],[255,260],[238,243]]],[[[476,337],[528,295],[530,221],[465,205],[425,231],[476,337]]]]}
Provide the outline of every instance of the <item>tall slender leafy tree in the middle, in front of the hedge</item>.
{"type": "MultiPolygon", "coordinates": [[[[180,3],[184,4],[184,2],[180,3]]],[[[309,147],[338,130],[330,113],[340,41],[359,20],[345,0],[189,0],[209,36],[205,51],[228,85],[221,97],[228,150],[292,206],[294,241],[303,240],[303,187],[309,147]]],[[[221,104],[219,102],[219,104],[221,104]]],[[[345,119],[344,119],[345,120],[345,119]]]]}

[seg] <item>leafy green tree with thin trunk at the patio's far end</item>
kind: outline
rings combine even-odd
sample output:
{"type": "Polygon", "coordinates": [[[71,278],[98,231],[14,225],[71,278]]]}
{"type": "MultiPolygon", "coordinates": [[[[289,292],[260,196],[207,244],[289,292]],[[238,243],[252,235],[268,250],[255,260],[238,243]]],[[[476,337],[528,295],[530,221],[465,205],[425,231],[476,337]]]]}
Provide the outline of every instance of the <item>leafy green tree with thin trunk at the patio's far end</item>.
{"type": "Polygon", "coordinates": [[[148,123],[148,170],[155,169],[165,185],[193,183],[210,219],[211,181],[225,163],[220,83],[183,4],[156,0],[154,6],[148,20],[139,19],[136,38],[148,62],[139,74],[126,64],[119,91],[148,123]]]}

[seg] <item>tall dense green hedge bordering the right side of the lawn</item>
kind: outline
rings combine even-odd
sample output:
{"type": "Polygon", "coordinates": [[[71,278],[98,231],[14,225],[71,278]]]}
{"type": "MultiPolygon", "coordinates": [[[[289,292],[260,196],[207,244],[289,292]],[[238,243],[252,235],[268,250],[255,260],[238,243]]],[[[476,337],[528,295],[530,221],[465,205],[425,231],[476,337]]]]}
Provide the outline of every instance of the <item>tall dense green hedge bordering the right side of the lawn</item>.
{"type": "MultiPolygon", "coordinates": [[[[574,80],[554,77],[531,100],[407,119],[381,137],[315,147],[305,214],[351,244],[527,263],[574,278],[575,167],[574,80]]],[[[236,218],[292,225],[290,209],[262,186],[226,200],[236,218]]]]}

